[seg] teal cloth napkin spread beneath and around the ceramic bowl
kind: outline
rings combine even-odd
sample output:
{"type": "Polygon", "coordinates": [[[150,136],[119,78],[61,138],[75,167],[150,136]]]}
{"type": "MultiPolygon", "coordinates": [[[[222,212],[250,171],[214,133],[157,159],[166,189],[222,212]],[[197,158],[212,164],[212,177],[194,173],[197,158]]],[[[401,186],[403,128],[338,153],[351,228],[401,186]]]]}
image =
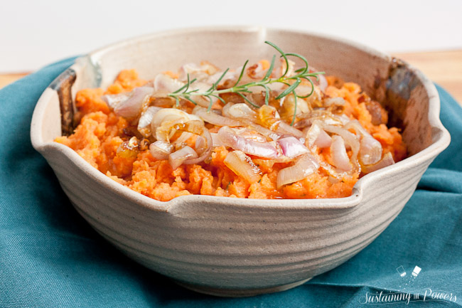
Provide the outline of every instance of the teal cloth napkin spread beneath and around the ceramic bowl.
{"type": "Polygon", "coordinates": [[[462,109],[441,87],[451,145],[382,235],[300,287],[220,298],[178,287],[106,243],[31,146],[38,97],[73,60],[0,90],[0,307],[462,307],[462,109]]]}

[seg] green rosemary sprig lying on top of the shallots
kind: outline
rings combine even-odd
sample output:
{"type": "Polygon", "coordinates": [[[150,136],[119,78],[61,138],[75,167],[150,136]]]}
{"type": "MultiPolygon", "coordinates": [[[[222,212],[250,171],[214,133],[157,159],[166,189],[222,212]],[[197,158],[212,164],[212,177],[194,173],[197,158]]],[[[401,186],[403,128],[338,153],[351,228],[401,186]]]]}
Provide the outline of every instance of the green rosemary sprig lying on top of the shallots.
{"type": "Polygon", "coordinates": [[[273,55],[271,64],[269,65],[267,73],[264,75],[262,80],[255,81],[255,82],[252,82],[252,83],[246,83],[245,85],[239,85],[240,80],[242,80],[242,76],[245,73],[245,68],[247,66],[247,63],[249,63],[249,60],[247,60],[247,61],[245,61],[244,65],[242,66],[242,70],[240,72],[239,78],[237,78],[237,81],[236,81],[235,85],[232,86],[232,87],[229,87],[227,89],[217,90],[218,84],[220,83],[222,78],[225,77],[228,70],[230,70],[229,68],[227,68],[222,73],[222,75],[220,75],[220,78],[218,78],[217,81],[215,83],[213,83],[213,85],[210,88],[208,88],[208,90],[206,90],[206,91],[200,92],[197,89],[196,90],[189,90],[190,86],[196,81],[196,79],[194,78],[193,80],[190,80],[189,75],[188,75],[188,80],[186,82],[186,85],[183,85],[183,87],[179,88],[175,92],[169,93],[168,96],[173,97],[176,100],[176,105],[177,106],[179,104],[180,99],[189,100],[190,102],[193,102],[193,104],[197,105],[196,102],[193,100],[194,96],[207,97],[208,100],[210,100],[210,105],[208,106],[208,111],[210,111],[210,109],[212,108],[212,105],[213,105],[212,97],[216,97],[221,102],[225,103],[225,101],[220,97],[220,94],[222,94],[222,93],[237,93],[249,105],[252,105],[252,107],[255,107],[255,108],[259,108],[258,105],[255,105],[253,102],[251,102],[249,99],[247,99],[245,93],[251,93],[249,88],[250,87],[262,87],[264,89],[264,92],[265,92],[264,103],[266,105],[268,105],[269,104],[269,101],[268,101],[269,100],[269,87],[268,87],[268,85],[270,85],[272,83],[283,83],[287,87],[286,87],[286,89],[284,91],[281,92],[281,94],[279,94],[276,97],[276,100],[280,100],[282,97],[285,97],[286,95],[289,95],[289,94],[294,95],[294,117],[292,117],[292,122],[291,122],[291,125],[294,125],[294,122],[295,122],[295,119],[296,119],[296,110],[297,110],[297,97],[303,99],[303,98],[306,98],[306,97],[309,97],[310,95],[312,95],[313,90],[314,90],[314,86],[313,86],[313,81],[311,80],[310,77],[316,77],[316,79],[318,80],[318,78],[319,78],[318,75],[323,74],[324,72],[310,73],[309,69],[308,69],[308,60],[306,60],[306,58],[303,57],[303,55],[299,55],[298,53],[284,53],[284,51],[282,51],[281,48],[276,46],[276,44],[274,44],[272,42],[269,42],[269,41],[265,41],[264,43],[267,43],[269,46],[272,46],[274,49],[276,49],[276,51],[278,51],[280,53],[280,58],[284,58],[284,62],[286,63],[286,69],[284,71],[284,74],[281,75],[281,77],[279,77],[279,78],[271,78],[271,74],[273,73],[273,70],[274,70],[274,63],[276,61],[276,55],[273,55]],[[287,73],[289,73],[289,58],[287,58],[287,57],[289,57],[289,56],[299,58],[300,60],[303,61],[304,65],[305,65],[303,68],[299,68],[298,70],[296,70],[295,71],[296,74],[293,75],[293,76],[288,76],[287,75],[287,73]],[[300,85],[302,79],[307,80],[309,83],[311,83],[311,92],[308,93],[308,95],[305,95],[305,96],[297,95],[296,92],[295,92],[296,87],[298,87],[300,85]]]}

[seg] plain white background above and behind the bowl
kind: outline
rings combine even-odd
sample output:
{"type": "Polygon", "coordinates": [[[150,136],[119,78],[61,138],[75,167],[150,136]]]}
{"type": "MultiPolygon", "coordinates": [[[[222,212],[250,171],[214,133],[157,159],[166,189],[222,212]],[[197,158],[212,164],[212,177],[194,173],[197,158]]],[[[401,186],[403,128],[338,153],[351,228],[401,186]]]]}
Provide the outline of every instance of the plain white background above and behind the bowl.
{"type": "Polygon", "coordinates": [[[462,48],[461,0],[0,3],[0,73],[36,70],[132,36],[209,25],[315,31],[387,52],[462,48]]]}

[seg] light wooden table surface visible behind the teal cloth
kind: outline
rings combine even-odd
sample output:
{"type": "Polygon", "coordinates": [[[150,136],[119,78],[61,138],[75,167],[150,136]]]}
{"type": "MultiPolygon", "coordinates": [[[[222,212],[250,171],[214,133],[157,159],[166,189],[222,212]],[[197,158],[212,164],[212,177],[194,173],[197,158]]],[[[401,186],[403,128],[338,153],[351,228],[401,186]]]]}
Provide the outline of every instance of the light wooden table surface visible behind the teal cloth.
{"type": "MultiPolygon", "coordinates": [[[[444,87],[462,105],[462,50],[424,53],[394,53],[419,68],[431,80],[444,87]]],[[[0,88],[27,73],[0,74],[0,88]]]]}

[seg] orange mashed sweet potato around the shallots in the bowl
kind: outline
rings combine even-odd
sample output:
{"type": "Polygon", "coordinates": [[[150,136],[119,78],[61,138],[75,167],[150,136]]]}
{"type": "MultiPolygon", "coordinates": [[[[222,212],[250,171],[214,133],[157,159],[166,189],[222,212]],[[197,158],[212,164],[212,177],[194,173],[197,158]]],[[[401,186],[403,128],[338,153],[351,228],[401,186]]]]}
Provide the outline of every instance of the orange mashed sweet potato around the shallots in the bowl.
{"type": "MultiPolygon", "coordinates": [[[[372,124],[372,116],[360,86],[355,83],[339,86],[335,85],[335,78],[327,80],[329,85],[326,95],[345,99],[345,115],[357,119],[382,144],[384,154],[390,152],[394,161],[404,159],[407,152],[399,129],[389,129],[385,124],[372,124]]],[[[200,164],[183,164],[175,170],[168,161],[154,159],[149,149],[140,149],[136,155],[122,155],[118,149],[122,142],[130,138],[127,132],[130,123],[115,115],[101,96],[129,92],[145,83],[134,70],[124,70],[107,90],[81,90],[76,96],[80,124],[72,135],[58,137],[55,141],[74,149],[88,163],[119,184],[159,201],[169,201],[189,194],[262,199],[340,198],[350,196],[353,186],[362,176],[356,174],[341,181],[331,181],[328,174],[319,169],[306,179],[278,189],[278,171],[291,163],[252,156],[254,164],[262,171],[262,177],[258,182],[249,184],[223,162],[228,153],[225,147],[215,147],[211,159],[200,164]]],[[[214,130],[213,125],[208,124],[208,127],[210,131],[214,130]]],[[[331,161],[329,148],[320,149],[318,154],[325,161],[331,161]]]]}

